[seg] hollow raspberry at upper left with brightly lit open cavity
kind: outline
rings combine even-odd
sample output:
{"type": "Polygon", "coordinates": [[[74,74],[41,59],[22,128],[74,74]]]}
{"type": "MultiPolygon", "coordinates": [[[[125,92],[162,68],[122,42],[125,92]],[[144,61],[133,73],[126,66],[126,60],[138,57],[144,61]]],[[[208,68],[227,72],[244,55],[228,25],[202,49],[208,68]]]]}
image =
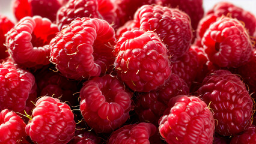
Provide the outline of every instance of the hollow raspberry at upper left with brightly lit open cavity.
{"type": "Polygon", "coordinates": [[[58,32],[55,24],[40,16],[24,17],[7,33],[6,46],[17,64],[41,67],[49,64],[50,40],[58,32]]]}

